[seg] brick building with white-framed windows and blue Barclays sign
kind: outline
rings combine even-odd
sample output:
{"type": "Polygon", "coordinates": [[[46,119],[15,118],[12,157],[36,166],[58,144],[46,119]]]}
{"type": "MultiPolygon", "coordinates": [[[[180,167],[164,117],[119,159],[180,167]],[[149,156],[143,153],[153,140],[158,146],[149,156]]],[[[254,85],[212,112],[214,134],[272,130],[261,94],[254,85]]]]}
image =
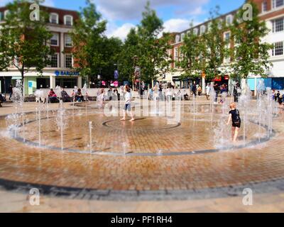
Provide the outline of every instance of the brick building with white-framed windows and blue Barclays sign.
{"type": "MultiPolygon", "coordinates": [[[[55,54],[51,56],[51,65],[43,70],[43,77],[38,77],[35,69],[25,74],[24,93],[33,94],[36,89],[55,88],[56,86],[73,88],[82,87],[82,77],[72,70],[74,60],[72,59],[72,31],[75,21],[79,18],[77,11],[43,7],[49,13],[48,30],[53,34],[50,46],[55,54]]],[[[5,23],[5,16],[8,11],[0,7],[0,26],[5,23]]],[[[5,93],[10,84],[15,84],[16,79],[21,79],[18,70],[11,66],[8,72],[0,72],[0,92],[5,93]]]]}

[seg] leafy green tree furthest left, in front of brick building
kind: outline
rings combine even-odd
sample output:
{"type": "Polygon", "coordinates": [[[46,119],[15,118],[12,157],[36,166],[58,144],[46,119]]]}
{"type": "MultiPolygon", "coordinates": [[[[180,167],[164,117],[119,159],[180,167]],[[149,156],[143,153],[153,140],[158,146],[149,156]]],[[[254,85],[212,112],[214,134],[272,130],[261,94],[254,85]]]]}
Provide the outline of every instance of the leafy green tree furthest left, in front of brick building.
{"type": "MultiPolygon", "coordinates": [[[[42,1],[35,3],[39,5],[42,1]]],[[[47,45],[52,36],[46,28],[48,14],[40,10],[40,20],[31,20],[30,6],[26,0],[14,0],[8,4],[9,13],[1,28],[0,62],[4,63],[4,70],[10,63],[16,67],[21,72],[22,83],[24,74],[32,67],[41,74],[53,53],[47,45]]]]}

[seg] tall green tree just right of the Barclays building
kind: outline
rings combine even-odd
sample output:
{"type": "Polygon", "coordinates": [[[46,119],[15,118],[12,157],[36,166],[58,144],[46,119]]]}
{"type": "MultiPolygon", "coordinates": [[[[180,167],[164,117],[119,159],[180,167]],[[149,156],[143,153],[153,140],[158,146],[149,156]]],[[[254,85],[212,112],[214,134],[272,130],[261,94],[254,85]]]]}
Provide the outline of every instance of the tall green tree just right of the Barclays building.
{"type": "Polygon", "coordinates": [[[99,74],[104,65],[104,53],[101,52],[105,41],[104,32],[107,21],[102,21],[102,15],[97,11],[92,1],[87,0],[87,6],[82,9],[80,19],[76,21],[72,32],[75,68],[82,77],[94,77],[99,74]]]}

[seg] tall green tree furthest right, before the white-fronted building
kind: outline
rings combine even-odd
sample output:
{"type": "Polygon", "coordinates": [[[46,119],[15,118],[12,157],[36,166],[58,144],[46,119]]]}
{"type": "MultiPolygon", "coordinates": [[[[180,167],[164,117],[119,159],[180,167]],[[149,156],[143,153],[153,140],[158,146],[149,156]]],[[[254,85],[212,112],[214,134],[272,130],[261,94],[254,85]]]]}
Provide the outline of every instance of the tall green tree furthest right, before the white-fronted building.
{"type": "Polygon", "coordinates": [[[235,77],[244,79],[249,77],[249,74],[262,76],[266,74],[266,70],[272,66],[268,59],[269,51],[273,48],[272,45],[263,41],[269,30],[266,22],[260,21],[258,17],[258,6],[252,1],[248,3],[249,8],[243,7],[239,10],[231,27],[235,41],[234,52],[232,52],[234,62],[231,68],[234,70],[235,77]],[[246,18],[247,13],[251,14],[251,18],[246,18]]]}

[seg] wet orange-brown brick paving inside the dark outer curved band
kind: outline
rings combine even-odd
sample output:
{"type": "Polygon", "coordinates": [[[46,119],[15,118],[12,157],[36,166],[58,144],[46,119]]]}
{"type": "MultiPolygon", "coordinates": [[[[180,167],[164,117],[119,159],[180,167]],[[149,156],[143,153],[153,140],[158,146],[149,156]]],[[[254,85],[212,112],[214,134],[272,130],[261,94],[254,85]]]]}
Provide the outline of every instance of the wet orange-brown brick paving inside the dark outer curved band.
{"type": "MultiPolygon", "coordinates": [[[[205,102],[204,102],[205,103],[205,102]]],[[[37,104],[26,104],[26,111],[33,111],[37,104]]],[[[72,106],[67,106],[71,109],[72,106]]],[[[50,110],[57,109],[51,105],[50,110]]],[[[78,112],[80,107],[75,107],[78,112]]],[[[200,109],[206,109],[200,106],[200,109]]],[[[0,109],[4,116],[13,111],[11,106],[0,109]]],[[[179,153],[190,150],[214,149],[212,132],[207,121],[192,121],[192,114],[182,116],[181,125],[167,128],[165,118],[146,118],[134,125],[121,123],[119,118],[107,118],[102,114],[70,116],[70,127],[64,140],[68,149],[87,150],[87,122],[94,122],[94,150],[121,153],[179,153]],[[149,124],[152,128],[149,128],[149,124]],[[194,126],[197,124],[197,126],[194,126]],[[136,126],[136,127],[135,127],[136,126]],[[129,128],[133,128],[130,130],[129,128]],[[194,131],[192,131],[194,130],[194,131]],[[124,145],[124,146],[123,146],[124,145]],[[127,147],[129,145],[129,147],[127,147]],[[121,150],[121,148],[124,148],[121,150]]],[[[35,118],[34,114],[28,118],[35,118]]],[[[196,116],[198,119],[198,116],[196,116]]],[[[89,155],[60,152],[48,148],[33,148],[14,140],[3,132],[4,118],[0,119],[0,179],[4,182],[89,189],[96,192],[186,192],[190,190],[238,187],[245,184],[271,182],[284,178],[284,115],[280,112],[273,121],[276,131],[267,143],[236,150],[196,155],[170,156],[115,156],[89,155]]],[[[42,121],[43,144],[60,148],[54,119],[42,121]],[[51,133],[50,133],[51,132],[51,133]],[[53,140],[56,138],[56,140],[53,140]]],[[[249,131],[255,131],[251,124],[249,131]]],[[[37,141],[36,122],[26,128],[28,140],[37,141]]],[[[22,135],[23,132],[20,134],[22,135]]],[[[248,138],[252,140],[253,138],[248,138]]],[[[95,198],[94,198],[95,199],[95,198]]],[[[189,209],[190,210],[190,209],[189,209]]]]}

